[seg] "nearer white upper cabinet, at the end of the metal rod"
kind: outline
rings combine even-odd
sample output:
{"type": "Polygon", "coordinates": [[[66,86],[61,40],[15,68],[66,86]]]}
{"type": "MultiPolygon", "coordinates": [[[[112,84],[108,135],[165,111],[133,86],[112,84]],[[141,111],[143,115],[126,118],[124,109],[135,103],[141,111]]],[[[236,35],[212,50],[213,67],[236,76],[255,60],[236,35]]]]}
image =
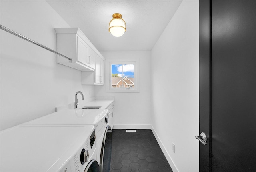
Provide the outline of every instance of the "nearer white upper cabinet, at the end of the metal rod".
{"type": "MultiPolygon", "coordinates": [[[[56,62],[81,71],[95,70],[95,54],[100,54],[79,28],[55,28],[56,51],[72,59],[56,56],[56,62]]],[[[101,54],[100,54],[101,55],[101,54]]]]}

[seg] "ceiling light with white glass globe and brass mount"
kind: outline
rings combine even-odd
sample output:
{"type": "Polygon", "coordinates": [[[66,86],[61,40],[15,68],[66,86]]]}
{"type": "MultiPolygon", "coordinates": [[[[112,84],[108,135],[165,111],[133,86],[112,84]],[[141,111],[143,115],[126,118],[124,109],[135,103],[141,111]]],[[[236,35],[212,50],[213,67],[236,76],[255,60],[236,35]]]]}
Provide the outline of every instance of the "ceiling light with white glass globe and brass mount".
{"type": "Polygon", "coordinates": [[[122,15],[119,13],[114,13],[112,20],[110,20],[108,25],[108,32],[113,36],[119,37],[126,32],[126,23],[122,19],[122,15]]]}

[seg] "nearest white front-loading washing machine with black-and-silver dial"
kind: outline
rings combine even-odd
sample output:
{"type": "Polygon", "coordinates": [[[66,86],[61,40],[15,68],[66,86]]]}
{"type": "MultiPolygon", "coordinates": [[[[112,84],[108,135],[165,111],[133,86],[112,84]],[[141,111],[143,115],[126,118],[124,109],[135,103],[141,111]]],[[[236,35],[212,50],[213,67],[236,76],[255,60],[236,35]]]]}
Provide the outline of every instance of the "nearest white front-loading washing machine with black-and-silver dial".
{"type": "Polygon", "coordinates": [[[0,132],[1,172],[99,172],[93,125],[19,125],[0,132]]]}

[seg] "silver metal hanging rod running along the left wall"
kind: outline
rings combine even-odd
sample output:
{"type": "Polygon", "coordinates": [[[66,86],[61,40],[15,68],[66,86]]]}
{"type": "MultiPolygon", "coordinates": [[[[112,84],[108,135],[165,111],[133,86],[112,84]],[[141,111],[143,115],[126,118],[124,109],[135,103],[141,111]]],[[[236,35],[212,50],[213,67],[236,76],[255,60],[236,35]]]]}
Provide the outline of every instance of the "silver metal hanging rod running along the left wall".
{"type": "Polygon", "coordinates": [[[43,46],[42,44],[39,44],[38,42],[35,42],[35,41],[33,41],[33,40],[31,40],[31,39],[25,37],[25,36],[22,36],[21,34],[18,34],[17,32],[14,32],[13,30],[10,30],[10,29],[8,29],[8,28],[2,26],[2,25],[0,25],[0,29],[4,30],[4,31],[6,31],[6,32],[9,32],[9,33],[11,33],[11,34],[13,34],[13,35],[15,35],[15,36],[18,36],[18,37],[20,37],[20,38],[22,38],[22,39],[24,39],[24,40],[26,40],[26,41],[28,41],[28,42],[31,42],[31,43],[33,43],[33,44],[36,44],[36,45],[38,45],[38,46],[40,46],[40,47],[42,47],[42,48],[44,48],[44,49],[46,49],[46,50],[49,50],[50,52],[53,52],[53,53],[55,53],[55,54],[57,54],[57,55],[59,55],[59,56],[62,56],[62,57],[64,57],[64,58],[66,58],[66,59],[68,59],[70,62],[72,62],[72,59],[71,59],[71,58],[68,58],[67,56],[64,56],[63,54],[60,54],[60,53],[58,53],[58,52],[56,52],[56,51],[54,51],[54,50],[52,50],[52,49],[50,49],[50,48],[48,48],[48,47],[46,47],[46,46],[43,46]]]}

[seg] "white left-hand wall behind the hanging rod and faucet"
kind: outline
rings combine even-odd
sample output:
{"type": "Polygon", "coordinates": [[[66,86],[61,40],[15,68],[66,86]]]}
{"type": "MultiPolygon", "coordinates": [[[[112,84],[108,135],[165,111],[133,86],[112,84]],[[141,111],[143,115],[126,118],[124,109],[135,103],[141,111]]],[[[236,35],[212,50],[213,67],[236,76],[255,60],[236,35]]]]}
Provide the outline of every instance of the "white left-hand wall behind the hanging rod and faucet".
{"type": "MultiPolygon", "coordinates": [[[[0,1],[0,24],[56,50],[54,27],[69,25],[42,0],[0,1]]],[[[56,55],[0,31],[0,130],[54,112],[74,102],[76,91],[94,96],[81,85],[81,72],[56,64],[56,55]]]]}

